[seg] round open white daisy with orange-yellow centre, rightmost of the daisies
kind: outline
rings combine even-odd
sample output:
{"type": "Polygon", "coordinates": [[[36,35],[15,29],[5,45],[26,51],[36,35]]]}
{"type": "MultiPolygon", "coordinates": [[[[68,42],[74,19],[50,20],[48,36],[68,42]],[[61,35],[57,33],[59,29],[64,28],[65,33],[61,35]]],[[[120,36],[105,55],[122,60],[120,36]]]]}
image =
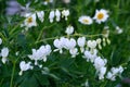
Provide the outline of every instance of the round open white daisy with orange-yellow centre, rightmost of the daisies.
{"type": "Polygon", "coordinates": [[[101,9],[95,11],[93,20],[95,20],[96,23],[101,24],[101,22],[106,22],[108,16],[108,11],[101,9]]]}

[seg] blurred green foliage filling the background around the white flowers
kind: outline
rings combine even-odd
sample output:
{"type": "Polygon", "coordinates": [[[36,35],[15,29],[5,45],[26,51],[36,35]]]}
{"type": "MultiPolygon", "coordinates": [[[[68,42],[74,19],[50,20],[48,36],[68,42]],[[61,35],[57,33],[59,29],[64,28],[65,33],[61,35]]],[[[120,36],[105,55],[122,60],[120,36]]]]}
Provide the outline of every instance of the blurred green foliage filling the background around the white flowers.
{"type": "MultiPolygon", "coordinates": [[[[17,0],[22,5],[26,5],[29,0],[17,0]]],[[[4,1],[0,1],[0,5],[4,1]]],[[[2,10],[5,5],[2,5],[2,10]]],[[[81,87],[81,84],[89,79],[90,87],[115,87],[117,84],[122,84],[119,77],[115,82],[108,79],[99,80],[95,74],[95,69],[91,63],[88,63],[82,55],[70,58],[67,52],[58,54],[51,53],[48,61],[42,63],[44,67],[49,67],[49,73],[42,72],[36,66],[35,70],[24,72],[18,75],[20,62],[28,61],[27,54],[31,54],[32,48],[39,48],[41,45],[50,44],[53,47],[53,40],[43,40],[46,38],[61,37],[65,35],[67,25],[75,26],[76,33],[83,35],[101,34],[105,25],[109,26],[110,45],[100,50],[100,53],[108,60],[108,70],[113,66],[122,65],[126,67],[122,77],[130,77],[130,0],[100,0],[95,3],[94,0],[72,0],[69,4],[65,4],[62,0],[54,0],[53,4],[42,5],[41,1],[30,1],[32,11],[46,11],[44,22],[38,22],[37,27],[31,27],[25,34],[21,32],[21,23],[24,21],[20,15],[5,16],[3,11],[0,11],[0,38],[3,44],[0,46],[10,48],[9,61],[2,64],[0,61],[0,87],[81,87]],[[70,16],[68,21],[63,21],[50,24],[48,16],[49,11],[53,9],[69,9],[70,16]],[[82,14],[93,16],[96,9],[109,10],[109,20],[106,23],[96,25],[93,23],[90,26],[81,25],[78,17],[82,14]],[[120,26],[123,33],[117,35],[115,27],[120,26]],[[15,52],[20,51],[18,57],[15,52]]],[[[77,37],[76,37],[77,38],[77,37]]],[[[87,39],[94,39],[88,37],[87,39]]],[[[125,85],[123,87],[129,87],[125,85]]]]}

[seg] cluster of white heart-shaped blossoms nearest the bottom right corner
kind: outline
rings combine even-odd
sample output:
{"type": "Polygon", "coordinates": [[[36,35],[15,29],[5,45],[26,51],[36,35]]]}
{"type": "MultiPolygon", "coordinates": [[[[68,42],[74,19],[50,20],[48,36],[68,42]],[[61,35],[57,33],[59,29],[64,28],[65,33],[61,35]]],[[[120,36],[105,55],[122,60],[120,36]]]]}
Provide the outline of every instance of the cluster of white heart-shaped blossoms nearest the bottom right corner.
{"type": "Polygon", "coordinates": [[[106,78],[108,78],[110,80],[116,80],[116,76],[120,76],[122,72],[123,72],[123,67],[122,66],[112,67],[110,72],[107,73],[106,78]]]}

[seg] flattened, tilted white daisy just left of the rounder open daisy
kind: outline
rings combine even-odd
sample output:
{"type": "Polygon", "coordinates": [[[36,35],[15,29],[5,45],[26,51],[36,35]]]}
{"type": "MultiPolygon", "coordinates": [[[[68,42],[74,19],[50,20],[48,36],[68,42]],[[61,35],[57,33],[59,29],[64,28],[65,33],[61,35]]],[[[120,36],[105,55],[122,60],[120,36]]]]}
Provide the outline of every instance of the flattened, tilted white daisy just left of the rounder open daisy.
{"type": "Polygon", "coordinates": [[[93,23],[92,18],[90,16],[87,16],[87,15],[80,16],[78,21],[84,25],[91,25],[93,23]]]}

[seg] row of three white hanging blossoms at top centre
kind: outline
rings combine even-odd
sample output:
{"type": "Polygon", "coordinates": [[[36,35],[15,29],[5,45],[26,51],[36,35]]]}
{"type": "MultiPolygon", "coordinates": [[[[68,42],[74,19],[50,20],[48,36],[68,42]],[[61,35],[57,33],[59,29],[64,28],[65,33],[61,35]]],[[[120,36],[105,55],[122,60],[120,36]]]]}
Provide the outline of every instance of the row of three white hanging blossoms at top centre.
{"type": "Polygon", "coordinates": [[[60,22],[61,15],[62,15],[62,17],[65,16],[65,20],[67,20],[67,16],[69,15],[69,10],[63,10],[62,12],[58,9],[56,9],[55,11],[52,10],[49,14],[50,23],[53,23],[54,17],[56,17],[55,18],[56,22],[60,22]]]}

